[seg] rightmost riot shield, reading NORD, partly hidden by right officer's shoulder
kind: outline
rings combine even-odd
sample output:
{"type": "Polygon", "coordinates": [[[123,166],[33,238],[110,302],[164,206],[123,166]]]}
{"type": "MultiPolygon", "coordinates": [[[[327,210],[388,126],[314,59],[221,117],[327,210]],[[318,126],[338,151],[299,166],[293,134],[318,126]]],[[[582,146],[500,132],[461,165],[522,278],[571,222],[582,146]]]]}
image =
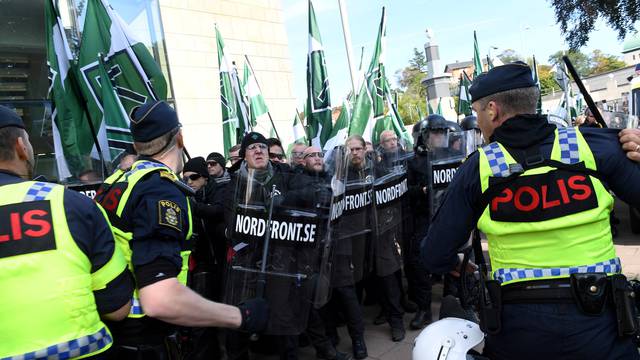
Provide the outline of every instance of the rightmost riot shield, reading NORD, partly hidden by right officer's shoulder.
{"type": "Polygon", "coordinates": [[[448,147],[433,147],[429,156],[429,206],[431,217],[444,200],[458,167],[480,144],[474,130],[449,133],[448,147]]]}

